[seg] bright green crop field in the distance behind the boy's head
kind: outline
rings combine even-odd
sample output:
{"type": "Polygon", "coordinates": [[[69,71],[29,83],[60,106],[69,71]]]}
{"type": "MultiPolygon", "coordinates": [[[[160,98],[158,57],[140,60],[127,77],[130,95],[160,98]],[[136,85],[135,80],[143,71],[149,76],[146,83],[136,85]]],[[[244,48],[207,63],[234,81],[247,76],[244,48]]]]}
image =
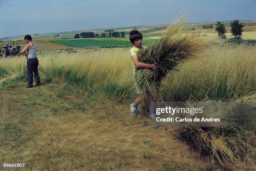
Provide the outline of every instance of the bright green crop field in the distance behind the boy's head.
{"type": "MultiPolygon", "coordinates": [[[[154,43],[154,39],[146,39],[143,45],[154,43]]],[[[128,38],[81,38],[69,40],[52,40],[54,43],[74,47],[131,47],[133,46],[128,38]]]]}

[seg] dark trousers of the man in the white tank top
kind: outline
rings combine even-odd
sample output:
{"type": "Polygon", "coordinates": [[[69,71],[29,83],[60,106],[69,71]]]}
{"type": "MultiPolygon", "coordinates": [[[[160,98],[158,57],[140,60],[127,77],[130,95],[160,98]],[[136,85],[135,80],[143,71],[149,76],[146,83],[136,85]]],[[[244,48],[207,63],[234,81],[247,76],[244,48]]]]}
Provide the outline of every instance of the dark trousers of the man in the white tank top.
{"type": "Polygon", "coordinates": [[[40,85],[40,78],[39,78],[37,67],[38,67],[37,58],[31,58],[27,60],[28,86],[33,86],[33,72],[36,77],[36,85],[40,85]]]}

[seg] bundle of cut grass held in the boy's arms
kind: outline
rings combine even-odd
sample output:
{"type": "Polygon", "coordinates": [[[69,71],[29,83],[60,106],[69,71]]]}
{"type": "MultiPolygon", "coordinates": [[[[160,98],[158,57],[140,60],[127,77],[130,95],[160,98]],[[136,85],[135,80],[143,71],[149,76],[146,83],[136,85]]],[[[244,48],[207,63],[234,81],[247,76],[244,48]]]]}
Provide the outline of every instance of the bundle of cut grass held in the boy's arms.
{"type": "Polygon", "coordinates": [[[138,51],[140,62],[156,64],[159,67],[158,73],[151,69],[138,69],[135,79],[141,89],[154,95],[161,79],[168,71],[185,59],[198,56],[202,47],[207,44],[200,39],[198,33],[193,33],[192,25],[186,24],[185,21],[174,21],[158,42],[138,51]]]}

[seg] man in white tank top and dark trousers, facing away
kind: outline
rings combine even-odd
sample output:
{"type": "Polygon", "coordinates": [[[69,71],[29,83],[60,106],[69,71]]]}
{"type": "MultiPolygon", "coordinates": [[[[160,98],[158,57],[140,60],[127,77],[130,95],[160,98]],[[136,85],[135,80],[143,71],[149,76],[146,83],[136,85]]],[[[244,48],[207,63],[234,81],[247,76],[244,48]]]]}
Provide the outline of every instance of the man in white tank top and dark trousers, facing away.
{"type": "Polygon", "coordinates": [[[27,75],[28,75],[28,85],[26,88],[33,87],[33,72],[36,77],[36,86],[40,86],[40,77],[38,74],[38,59],[36,56],[36,44],[32,42],[31,35],[26,35],[24,37],[25,42],[27,45],[24,47],[23,50],[20,51],[20,54],[23,54],[27,51],[28,60],[27,60],[27,75]]]}

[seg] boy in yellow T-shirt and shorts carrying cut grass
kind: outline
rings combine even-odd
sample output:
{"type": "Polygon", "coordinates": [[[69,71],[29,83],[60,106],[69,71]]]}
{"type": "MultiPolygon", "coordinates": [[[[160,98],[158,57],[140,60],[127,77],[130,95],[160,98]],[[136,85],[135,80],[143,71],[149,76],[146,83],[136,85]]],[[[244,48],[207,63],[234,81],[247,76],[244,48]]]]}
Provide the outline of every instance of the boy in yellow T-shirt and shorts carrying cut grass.
{"type": "Polygon", "coordinates": [[[147,94],[149,116],[153,116],[153,109],[151,107],[151,102],[154,101],[154,97],[152,96],[151,93],[145,92],[142,89],[140,89],[140,87],[138,86],[138,83],[134,79],[134,76],[137,74],[137,72],[136,72],[137,68],[150,68],[154,72],[158,72],[158,68],[156,67],[155,64],[146,64],[146,63],[138,61],[138,56],[137,56],[136,52],[143,48],[142,47],[142,41],[143,41],[142,38],[143,38],[143,35],[141,34],[141,32],[139,32],[138,30],[131,30],[129,39],[134,46],[130,49],[130,54],[131,54],[131,58],[132,58],[132,62],[133,62],[133,81],[134,81],[136,91],[138,93],[138,97],[136,98],[135,102],[133,104],[131,104],[131,115],[132,116],[137,115],[136,108],[139,104],[141,104],[146,99],[146,94],[147,94]]]}

